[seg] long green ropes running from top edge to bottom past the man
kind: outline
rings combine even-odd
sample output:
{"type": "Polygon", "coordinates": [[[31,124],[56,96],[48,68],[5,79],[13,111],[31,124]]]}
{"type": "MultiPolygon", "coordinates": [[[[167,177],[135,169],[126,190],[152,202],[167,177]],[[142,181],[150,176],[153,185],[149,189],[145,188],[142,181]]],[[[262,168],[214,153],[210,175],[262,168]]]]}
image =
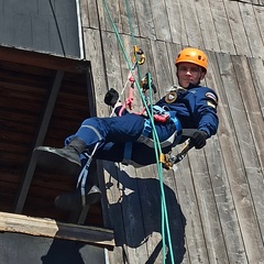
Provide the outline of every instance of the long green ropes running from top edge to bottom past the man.
{"type": "MultiPolygon", "coordinates": [[[[131,62],[130,62],[129,56],[125,52],[125,48],[123,46],[123,43],[122,43],[120,34],[117,30],[117,26],[116,26],[116,24],[112,20],[112,16],[109,12],[108,4],[107,4],[106,0],[102,0],[102,1],[103,1],[105,10],[108,14],[108,18],[109,18],[109,20],[112,24],[113,31],[117,35],[119,45],[120,45],[120,47],[122,50],[122,53],[124,55],[128,68],[132,73],[133,68],[132,68],[131,62]]],[[[127,3],[127,8],[129,8],[128,0],[125,0],[125,3],[127,3]]],[[[129,9],[128,9],[128,16],[129,16],[129,21],[131,21],[129,9]]],[[[134,42],[134,35],[132,33],[131,23],[130,23],[130,30],[131,30],[132,38],[133,38],[133,42],[134,42]]],[[[170,254],[172,263],[174,264],[174,253],[173,253],[173,246],[172,246],[172,238],[170,238],[170,231],[169,231],[169,224],[168,224],[167,207],[166,207],[166,199],[165,199],[165,191],[164,191],[164,184],[163,184],[163,166],[162,166],[162,163],[160,162],[160,155],[162,154],[162,148],[161,148],[161,142],[160,142],[158,136],[157,136],[157,132],[155,130],[154,118],[153,118],[153,98],[152,98],[153,92],[152,92],[151,75],[150,74],[148,74],[147,78],[148,78],[148,85],[150,85],[150,87],[148,87],[150,88],[150,106],[147,106],[146,101],[144,100],[144,95],[142,92],[139,80],[136,78],[135,78],[135,86],[136,86],[138,91],[139,91],[141,98],[142,98],[143,105],[146,109],[147,116],[150,117],[150,121],[151,121],[151,125],[152,125],[152,138],[153,138],[153,141],[154,141],[154,150],[155,150],[157,173],[158,173],[160,187],[161,187],[163,263],[165,263],[165,255],[166,255],[166,241],[165,241],[166,235],[165,234],[167,234],[169,254],[170,254]],[[166,233],[165,233],[165,231],[166,231],[166,233]]]]}

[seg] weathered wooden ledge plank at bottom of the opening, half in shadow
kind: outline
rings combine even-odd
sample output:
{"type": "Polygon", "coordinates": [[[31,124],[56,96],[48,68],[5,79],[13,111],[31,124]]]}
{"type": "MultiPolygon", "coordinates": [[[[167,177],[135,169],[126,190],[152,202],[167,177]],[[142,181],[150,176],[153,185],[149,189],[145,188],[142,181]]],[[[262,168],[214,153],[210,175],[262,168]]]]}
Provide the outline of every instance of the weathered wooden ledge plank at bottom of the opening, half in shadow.
{"type": "Polygon", "coordinates": [[[82,241],[109,249],[114,246],[111,230],[62,223],[51,219],[31,218],[8,212],[0,212],[0,230],[2,232],[82,241]]]}

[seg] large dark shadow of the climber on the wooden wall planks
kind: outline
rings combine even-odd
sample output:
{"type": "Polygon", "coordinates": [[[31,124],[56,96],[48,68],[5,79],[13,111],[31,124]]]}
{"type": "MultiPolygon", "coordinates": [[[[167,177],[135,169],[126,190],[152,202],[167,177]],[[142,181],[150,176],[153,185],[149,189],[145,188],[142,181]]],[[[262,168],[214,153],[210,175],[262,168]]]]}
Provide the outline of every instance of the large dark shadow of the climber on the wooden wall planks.
{"type": "MultiPolygon", "coordinates": [[[[150,237],[156,232],[162,237],[162,213],[161,213],[161,187],[160,180],[155,178],[132,178],[125,172],[117,167],[114,173],[112,166],[103,166],[111,176],[119,183],[121,197],[110,205],[110,218],[114,229],[114,240],[117,246],[128,245],[136,249],[146,243],[150,237]],[[109,168],[109,169],[108,169],[109,168]]],[[[110,178],[111,180],[111,178],[110,178]]],[[[111,188],[112,183],[106,183],[107,188],[111,188]]],[[[170,240],[173,244],[174,263],[183,262],[185,249],[185,226],[186,219],[177,202],[175,193],[164,185],[166,206],[168,212],[170,240]]],[[[168,241],[166,240],[168,246],[168,241]]],[[[160,241],[151,252],[147,264],[156,263],[157,255],[163,250],[163,242],[160,241]]],[[[172,263],[169,253],[166,263],[172,263]]]]}

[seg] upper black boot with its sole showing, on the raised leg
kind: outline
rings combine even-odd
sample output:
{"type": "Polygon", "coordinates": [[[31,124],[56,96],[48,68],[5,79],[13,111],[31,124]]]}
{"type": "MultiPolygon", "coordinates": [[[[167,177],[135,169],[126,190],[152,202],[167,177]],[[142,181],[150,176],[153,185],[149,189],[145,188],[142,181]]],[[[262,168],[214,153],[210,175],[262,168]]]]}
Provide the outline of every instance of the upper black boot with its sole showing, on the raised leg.
{"type": "Polygon", "coordinates": [[[36,164],[46,170],[76,175],[81,166],[79,155],[85,148],[85,142],[75,138],[63,148],[37,146],[34,150],[33,157],[36,164]]]}

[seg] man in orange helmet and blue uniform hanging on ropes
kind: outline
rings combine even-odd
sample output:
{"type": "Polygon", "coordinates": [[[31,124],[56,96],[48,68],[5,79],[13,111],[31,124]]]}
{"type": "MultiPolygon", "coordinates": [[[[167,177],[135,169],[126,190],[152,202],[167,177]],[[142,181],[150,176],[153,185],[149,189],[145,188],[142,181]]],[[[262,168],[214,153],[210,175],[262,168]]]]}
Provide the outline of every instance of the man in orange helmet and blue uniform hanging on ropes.
{"type": "MultiPolygon", "coordinates": [[[[168,153],[183,142],[182,129],[196,129],[190,136],[191,143],[196,148],[204,147],[207,139],[216,134],[219,123],[218,97],[212,89],[200,86],[207,74],[206,54],[198,48],[184,48],[175,65],[180,87],[170,88],[154,106],[157,117],[161,117],[155,121],[155,130],[163,153],[168,153]]],[[[117,91],[111,89],[105,101],[113,107],[118,103],[117,99],[117,91]]],[[[125,160],[125,163],[145,166],[156,163],[151,130],[147,117],[128,111],[121,117],[89,118],[66,140],[65,147],[38,146],[34,150],[34,156],[38,165],[67,174],[80,168],[81,154],[92,152],[95,147],[95,158],[112,162],[125,160]]]]}

